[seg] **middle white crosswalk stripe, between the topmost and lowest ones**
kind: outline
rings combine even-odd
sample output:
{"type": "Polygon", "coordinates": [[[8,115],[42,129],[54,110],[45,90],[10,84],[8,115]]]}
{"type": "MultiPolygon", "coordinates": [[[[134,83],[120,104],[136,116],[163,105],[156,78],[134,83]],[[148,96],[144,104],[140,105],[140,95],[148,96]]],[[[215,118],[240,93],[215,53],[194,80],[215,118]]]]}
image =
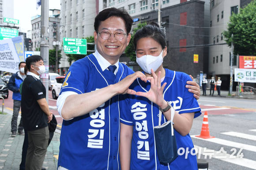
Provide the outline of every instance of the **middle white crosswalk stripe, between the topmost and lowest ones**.
{"type": "Polygon", "coordinates": [[[208,141],[208,142],[213,142],[213,143],[216,143],[216,144],[230,146],[230,147],[233,147],[233,148],[243,148],[243,149],[248,150],[248,151],[256,152],[256,146],[252,146],[252,145],[248,145],[248,144],[241,144],[241,143],[237,143],[237,142],[232,142],[230,140],[219,139],[219,138],[216,138],[216,137],[211,138],[211,139],[203,139],[203,138],[200,138],[200,137],[196,137],[196,135],[192,135],[191,137],[196,138],[196,139],[200,139],[200,140],[205,140],[205,141],[208,141]]]}

